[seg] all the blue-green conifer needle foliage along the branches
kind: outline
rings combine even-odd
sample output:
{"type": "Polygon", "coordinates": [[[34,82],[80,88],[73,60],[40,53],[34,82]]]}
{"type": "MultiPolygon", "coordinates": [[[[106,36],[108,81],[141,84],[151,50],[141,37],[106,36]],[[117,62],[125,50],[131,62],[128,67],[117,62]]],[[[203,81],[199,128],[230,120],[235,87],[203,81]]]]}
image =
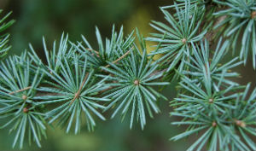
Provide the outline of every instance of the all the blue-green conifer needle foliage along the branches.
{"type": "Polygon", "coordinates": [[[32,44],[22,55],[6,56],[10,46],[4,31],[14,20],[5,15],[0,20],[0,128],[15,136],[13,147],[23,148],[26,141],[41,147],[48,125],[78,134],[82,125],[94,131],[96,119],[118,115],[130,119],[130,128],[137,121],[143,129],[146,119],[160,113],[158,104],[169,100],[171,119],[181,119],[172,125],[187,128],[171,141],[196,136],[187,150],[256,150],[256,89],[233,81],[239,73],[231,71],[249,55],[255,69],[255,0],[177,0],[160,10],[167,24],[153,21],[155,32],[148,38],[138,30],[125,37],[123,27],[116,32],[115,26],[105,43],[96,28],[97,48],[84,36],[71,42],[63,33],[49,49],[43,38],[46,63],[32,44]],[[147,40],[158,43],[150,53],[147,40]],[[232,59],[224,62],[232,49],[232,59]],[[173,80],[177,97],[166,98],[160,90],[173,80]]]}

